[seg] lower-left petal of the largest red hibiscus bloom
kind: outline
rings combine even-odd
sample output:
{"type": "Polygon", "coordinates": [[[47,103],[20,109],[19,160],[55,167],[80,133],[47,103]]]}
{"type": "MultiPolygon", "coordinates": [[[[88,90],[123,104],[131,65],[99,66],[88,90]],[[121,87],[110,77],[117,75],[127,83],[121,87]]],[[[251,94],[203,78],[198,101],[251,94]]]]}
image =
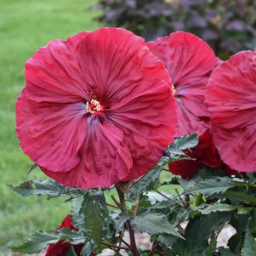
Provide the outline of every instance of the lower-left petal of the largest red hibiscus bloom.
{"type": "Polygon", "coordinates": [[[16,132],[23,151],[37,165],[54,172],[74,168],[87,131],[84,106],[38,104],[27,100],[23,90],[16,103],[16,132]]]}

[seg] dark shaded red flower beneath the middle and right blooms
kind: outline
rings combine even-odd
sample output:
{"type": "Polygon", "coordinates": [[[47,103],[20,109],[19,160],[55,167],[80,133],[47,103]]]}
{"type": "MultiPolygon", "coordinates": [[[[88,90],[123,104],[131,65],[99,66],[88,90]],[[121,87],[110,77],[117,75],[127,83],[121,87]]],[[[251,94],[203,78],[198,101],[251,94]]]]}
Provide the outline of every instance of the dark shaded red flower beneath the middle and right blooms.
{"type": "Polygon", "coordinates": [[[210,168],[219,168],[224,165],[213,143],[213,136],[210,130],[202,134],[199,137],[198,145],[191,151],[186,151],[186,154],[194,160],[179,160],[169,163],[170,172],[178,174],[184,179],[190,179],[203,165],[210,168]]]}

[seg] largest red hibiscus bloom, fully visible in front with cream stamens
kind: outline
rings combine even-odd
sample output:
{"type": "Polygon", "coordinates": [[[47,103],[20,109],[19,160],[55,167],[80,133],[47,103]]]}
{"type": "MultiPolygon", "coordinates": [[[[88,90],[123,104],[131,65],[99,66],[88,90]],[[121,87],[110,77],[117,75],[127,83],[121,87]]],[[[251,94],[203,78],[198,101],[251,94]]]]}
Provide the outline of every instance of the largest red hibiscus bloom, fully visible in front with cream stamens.
{"type": "Polygon", "coordinates": [[[54,40],[26,62],[16,104],[20,145],[43,172],[82,188],[138,178],[176,133],[164,65],[117,28],[54,40]]]}

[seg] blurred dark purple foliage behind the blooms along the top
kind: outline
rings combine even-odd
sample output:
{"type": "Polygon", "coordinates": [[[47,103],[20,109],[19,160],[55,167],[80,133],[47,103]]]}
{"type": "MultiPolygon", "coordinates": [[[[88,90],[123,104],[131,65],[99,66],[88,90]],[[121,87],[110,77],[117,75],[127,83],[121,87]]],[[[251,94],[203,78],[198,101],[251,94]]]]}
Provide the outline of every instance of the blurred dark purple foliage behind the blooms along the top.
{"type": "Polygon", "coordinates": [[[190,31],[210,44],[219,58],[256,46],[255,0],[100,0],[97,18],[127,28],[146,40],[190,31]]]}

